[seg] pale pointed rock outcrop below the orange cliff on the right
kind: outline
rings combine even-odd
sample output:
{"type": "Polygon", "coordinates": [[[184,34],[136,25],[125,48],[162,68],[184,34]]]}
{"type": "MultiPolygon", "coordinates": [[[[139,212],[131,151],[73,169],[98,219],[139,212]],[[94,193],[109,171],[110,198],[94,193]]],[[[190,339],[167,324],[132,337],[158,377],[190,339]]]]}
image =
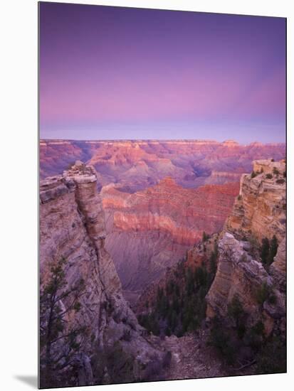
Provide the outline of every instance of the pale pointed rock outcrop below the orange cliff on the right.
{"type": "Polygon", "coordinates": [[[236,240],[229,232],[219,241],[219,264],[206,296],[206,316],[225,318],[228,306],[236,295],[249,315],[248,325],[253,326],[263,318],[266,333],[269,334],[274,326],[280,327],[280,322],[284,322],[285,328],[285,296],[277,289],[261,262],[253,259],[245,250],[247,245],[236,240]],[[263,303],[259,300],[263,286],[273,291],[274,303],[270,296],[263,303]]]}

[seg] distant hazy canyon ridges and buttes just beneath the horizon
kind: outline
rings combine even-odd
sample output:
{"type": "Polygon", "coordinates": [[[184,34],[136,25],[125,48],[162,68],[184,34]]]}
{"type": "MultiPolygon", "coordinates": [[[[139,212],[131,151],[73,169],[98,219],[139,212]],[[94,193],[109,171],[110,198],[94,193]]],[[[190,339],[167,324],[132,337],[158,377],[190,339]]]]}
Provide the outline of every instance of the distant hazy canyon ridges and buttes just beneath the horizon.
{"type": "Polygon", "coordinates": [[[285,144],[199,140],[63,141],[41,140],[41,178],[60,174],[76,159],[92,164],[101,186],[119,183],[138,191],[172,176],[185,188],[238,181],[255,159],[280,160],[285,144]],[[233,175],[234,174],[234,175],[233,175]]]}

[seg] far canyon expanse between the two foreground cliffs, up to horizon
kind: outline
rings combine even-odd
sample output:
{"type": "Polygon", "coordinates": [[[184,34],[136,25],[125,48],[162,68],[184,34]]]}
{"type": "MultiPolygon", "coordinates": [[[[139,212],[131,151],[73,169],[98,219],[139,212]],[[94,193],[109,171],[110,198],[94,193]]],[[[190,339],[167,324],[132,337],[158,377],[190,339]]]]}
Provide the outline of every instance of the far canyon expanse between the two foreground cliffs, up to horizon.
{"type": "Polygon", "coordinates": [[[40,176],[75,160],[95,168],[105,213],[105,248],[125,296],[185,257],[203,232],[219,232],[254,159],[283,159],[285,144],[228,140],[41,140],[40,176]]]}

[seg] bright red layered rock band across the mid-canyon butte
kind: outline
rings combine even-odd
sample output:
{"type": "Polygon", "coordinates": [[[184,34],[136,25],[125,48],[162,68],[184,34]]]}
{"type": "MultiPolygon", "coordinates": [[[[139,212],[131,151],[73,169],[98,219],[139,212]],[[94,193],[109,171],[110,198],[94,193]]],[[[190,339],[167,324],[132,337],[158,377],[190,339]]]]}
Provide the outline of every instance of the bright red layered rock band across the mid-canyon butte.
{"type": "Polygon", "coordinates": [[[103,208],[112,215],[112,230],[160,230],[181,245],[194,245],[203,231],[221,229],[238,191],[234,182],[186,189],[164,178],[145,191],[128,194],[107,186],[101,194],[103,208]]]}

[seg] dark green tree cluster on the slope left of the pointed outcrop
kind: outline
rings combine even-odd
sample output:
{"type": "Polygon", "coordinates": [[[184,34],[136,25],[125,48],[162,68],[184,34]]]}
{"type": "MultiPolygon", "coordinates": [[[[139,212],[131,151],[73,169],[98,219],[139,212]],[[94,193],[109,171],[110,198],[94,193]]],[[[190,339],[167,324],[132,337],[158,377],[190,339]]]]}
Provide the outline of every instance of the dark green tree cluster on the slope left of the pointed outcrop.
{"type": "Polygon", "coordinates": [[[216,272],[217,243],[209,257],[209,268],[177,265],[165,287],[157,289],[155,303],[149,301],[149,314],[138,316],[139,323],[154,335],[182,336],[196,331],[206,315],[205,296],[216,272]]]}

